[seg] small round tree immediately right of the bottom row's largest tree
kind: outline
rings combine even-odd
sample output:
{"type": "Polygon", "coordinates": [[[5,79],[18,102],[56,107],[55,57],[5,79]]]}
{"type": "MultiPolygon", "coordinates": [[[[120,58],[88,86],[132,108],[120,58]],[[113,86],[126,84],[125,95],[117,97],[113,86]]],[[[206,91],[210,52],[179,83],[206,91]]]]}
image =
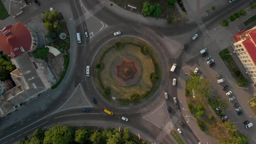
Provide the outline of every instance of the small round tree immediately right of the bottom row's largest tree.
{"type": "Polygon", "coordinates": [[[87,128],[80,128],[75,131],[75,141],[80,144],[85,143],[86,141],[90,141],[91,132],[87,128]]]}

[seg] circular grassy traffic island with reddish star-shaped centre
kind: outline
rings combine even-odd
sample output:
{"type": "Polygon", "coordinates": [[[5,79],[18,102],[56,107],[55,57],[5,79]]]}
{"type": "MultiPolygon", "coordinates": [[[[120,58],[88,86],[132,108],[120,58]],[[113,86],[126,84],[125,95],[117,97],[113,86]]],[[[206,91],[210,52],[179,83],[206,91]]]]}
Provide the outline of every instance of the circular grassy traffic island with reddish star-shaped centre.
{"type": "Polygon", "coordinates": [[[93,60],[97,90],[119,106],[138,105],[158,89],[161,69],[154,49],[141,39],[121,37],[105,43],[93,60]]]}

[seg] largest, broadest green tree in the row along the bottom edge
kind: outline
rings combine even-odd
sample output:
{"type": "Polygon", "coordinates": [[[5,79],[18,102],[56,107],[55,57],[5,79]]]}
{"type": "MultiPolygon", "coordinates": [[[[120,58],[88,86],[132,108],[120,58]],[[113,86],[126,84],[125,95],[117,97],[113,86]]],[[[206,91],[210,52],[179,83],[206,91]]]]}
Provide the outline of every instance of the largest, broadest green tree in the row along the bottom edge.
{"type": "Polygon", "coordinates": [[[68,144],[74,139],[74,130],[68,126],[55,125],[45,132],[43,144],[68,144]]]}

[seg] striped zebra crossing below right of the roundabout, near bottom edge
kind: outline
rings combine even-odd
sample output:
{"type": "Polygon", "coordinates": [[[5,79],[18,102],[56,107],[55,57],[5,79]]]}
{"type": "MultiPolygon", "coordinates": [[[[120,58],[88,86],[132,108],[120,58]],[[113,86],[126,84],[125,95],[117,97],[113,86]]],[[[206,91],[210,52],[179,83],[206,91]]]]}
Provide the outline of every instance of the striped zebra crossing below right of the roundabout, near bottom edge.
{"type": "Polygon", "coordinates": [[[158,134],[157,138],[155,139],[159,143],[164,139],[166,134],[170,133],[170,131],[173,129],[174,124],[181,118],[181,111],[178,110],[176,114],[171,118],[171,120],[166,124],[166,126],[162,129],[160,134],[158,134]]]}

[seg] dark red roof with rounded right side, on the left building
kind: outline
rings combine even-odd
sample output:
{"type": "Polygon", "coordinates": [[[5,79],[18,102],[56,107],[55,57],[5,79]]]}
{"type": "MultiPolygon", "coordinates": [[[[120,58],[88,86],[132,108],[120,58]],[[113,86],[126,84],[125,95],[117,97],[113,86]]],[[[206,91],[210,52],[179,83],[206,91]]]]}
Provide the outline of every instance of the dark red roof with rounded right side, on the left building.
{"type": "Polygon", "coordinates": [[[30,51],[31,45],[30,31],[20,22],[4,27],[0,33],[0,49],[11,58],[30,51]]]}

